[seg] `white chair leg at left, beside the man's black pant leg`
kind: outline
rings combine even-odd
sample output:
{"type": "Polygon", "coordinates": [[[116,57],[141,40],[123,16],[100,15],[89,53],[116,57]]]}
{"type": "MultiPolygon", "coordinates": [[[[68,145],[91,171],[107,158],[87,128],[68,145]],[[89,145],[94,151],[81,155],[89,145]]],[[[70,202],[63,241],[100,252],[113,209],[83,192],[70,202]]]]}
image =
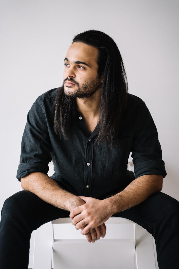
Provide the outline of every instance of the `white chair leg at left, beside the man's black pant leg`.
{"type": "Polygon", "coordinates": [[[52,246],[52,224],[48,222],[35,231],[33,269],[52,269],[52,246]]]}

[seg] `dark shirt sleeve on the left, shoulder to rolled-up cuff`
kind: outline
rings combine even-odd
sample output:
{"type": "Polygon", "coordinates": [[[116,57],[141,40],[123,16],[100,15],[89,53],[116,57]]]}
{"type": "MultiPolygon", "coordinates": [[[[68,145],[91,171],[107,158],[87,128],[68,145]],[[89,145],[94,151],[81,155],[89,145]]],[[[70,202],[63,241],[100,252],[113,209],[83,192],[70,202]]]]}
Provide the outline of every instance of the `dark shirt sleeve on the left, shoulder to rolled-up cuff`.
{"type": "Polygon", "coordinates": [[[47,174],[49,171],[52,146],[43,109],[41,98],[38,97],[28,112],[16,176],[19,181],[32,172],[47,174]]]}

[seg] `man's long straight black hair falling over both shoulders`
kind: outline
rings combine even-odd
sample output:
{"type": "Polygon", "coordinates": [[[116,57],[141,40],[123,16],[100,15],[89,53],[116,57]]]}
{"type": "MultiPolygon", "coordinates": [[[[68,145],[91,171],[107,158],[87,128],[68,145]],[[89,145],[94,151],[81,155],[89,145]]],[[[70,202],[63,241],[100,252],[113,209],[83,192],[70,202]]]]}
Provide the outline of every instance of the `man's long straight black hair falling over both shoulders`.
{"type": "MultiPolygon", "coordinates": [[[[127,102],[127,77],[119,49],[114,40],[97,30],[77,34],[74,42],[82,42],[98,49],[98,77],[104,74],[98,117],[96,142],[108,142],[111,146],[119,130],[119,123],[127,102]]],[[[54,117],[54,131],[67,139],[68,130],[75,126],[76,102],[60,88],[54,117]]]]}

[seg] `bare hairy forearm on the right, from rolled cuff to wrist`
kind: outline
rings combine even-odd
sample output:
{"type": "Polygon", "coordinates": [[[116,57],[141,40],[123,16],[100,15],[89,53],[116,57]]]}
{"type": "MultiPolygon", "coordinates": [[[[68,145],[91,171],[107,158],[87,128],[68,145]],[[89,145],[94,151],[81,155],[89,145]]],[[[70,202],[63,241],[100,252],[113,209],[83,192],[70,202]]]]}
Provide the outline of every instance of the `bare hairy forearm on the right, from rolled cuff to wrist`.
{"type": "Polygon", "coordinates": [[[105,200],[113,208],[113,214],[115,214],[142,203],[153,193],[160,192],[162,182],[163,176],[161,175],[140,176],[133,180],[122,192],[105,200]]]}

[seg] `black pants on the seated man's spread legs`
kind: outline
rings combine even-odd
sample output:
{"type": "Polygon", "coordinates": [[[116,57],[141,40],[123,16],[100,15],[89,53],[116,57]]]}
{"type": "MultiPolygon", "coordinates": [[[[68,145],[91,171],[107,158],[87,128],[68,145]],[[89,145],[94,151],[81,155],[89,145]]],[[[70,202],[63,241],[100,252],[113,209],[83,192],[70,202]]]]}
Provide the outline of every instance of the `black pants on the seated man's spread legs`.
{"type": "MultiPolygon", "coordinates": [[[[69,212],[54,207],[28,191],[9,197],[0,223],[0,269],[27,269],[30,237],[42,224],[69,212]]],[[[143,203],[115,214],[136,222],[154,236],[161,269],[179,268],[179,202],[156,193],[143,203]]]]}

